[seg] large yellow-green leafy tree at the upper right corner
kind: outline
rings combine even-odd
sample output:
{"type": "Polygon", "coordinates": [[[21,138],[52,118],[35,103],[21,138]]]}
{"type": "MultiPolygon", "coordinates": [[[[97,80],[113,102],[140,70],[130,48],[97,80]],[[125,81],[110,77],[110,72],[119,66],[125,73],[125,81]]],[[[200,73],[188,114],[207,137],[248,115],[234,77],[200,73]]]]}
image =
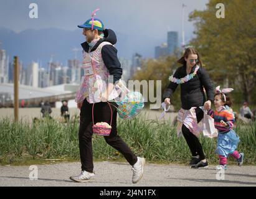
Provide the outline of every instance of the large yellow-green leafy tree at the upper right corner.
{"type": "Polygon", "coordinates": [[[224,0],[225,18],[216,17],[217,0],[210,0],[204,11],[194,11],[196,38],[191,41],[203,57],[212,80],[240,90],[252,99],[256,86],[256,1],[224,0]]]}

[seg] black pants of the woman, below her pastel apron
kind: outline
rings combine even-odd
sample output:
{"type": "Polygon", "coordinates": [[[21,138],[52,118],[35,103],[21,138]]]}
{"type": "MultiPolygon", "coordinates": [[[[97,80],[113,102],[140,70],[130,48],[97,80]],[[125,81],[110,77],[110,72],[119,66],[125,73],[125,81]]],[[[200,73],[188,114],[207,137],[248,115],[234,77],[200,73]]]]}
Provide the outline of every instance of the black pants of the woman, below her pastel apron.
{"type": "MultiPolygon", "coordinates": [[[[202,111],[201,108],[197,107],[196,108],[197,123],[199,123],[202,120],[202,118],[204,118],[204,112],[202,111]]],[[[194,134],[192,134],[192,132],[190,132],[189,129],[184,124],[182,126],[182,132],[183,132],[184,138],[186,139],[187,145],[189,146],[192,156],[199,155],[199,158],[201,160],[206,159],[204,155],[204,151],[202,150],[202,145],[199,142],[199,139],[194,134]]]]}

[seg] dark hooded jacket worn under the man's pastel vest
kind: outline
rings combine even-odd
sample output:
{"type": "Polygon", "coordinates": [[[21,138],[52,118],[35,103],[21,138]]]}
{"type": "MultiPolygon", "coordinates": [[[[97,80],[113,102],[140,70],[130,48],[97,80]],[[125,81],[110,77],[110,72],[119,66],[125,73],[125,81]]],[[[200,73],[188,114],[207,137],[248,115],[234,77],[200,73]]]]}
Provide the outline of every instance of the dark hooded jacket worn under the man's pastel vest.
{"type": "MultiPolygon", "coordinates": [[[[97,49],[98,45],[100,45],[102,42],[110,42],[111,44],[116,44],[116,34],[111,29],[105,29],[103,30],[104,37],[92,47],[92,50],[90,52],[93,52],[97,49]]],[[[83,47],[83,50],[85,52],[88,52],[90,46],[87,42],[83,42],[81,44],[83,47]]],[[[113,75],[114,82],[120,80],[121,75],[123,73],[123,70],[121,68],[121,63],[118,60],[117,57],[117,50],[113,45],[104,45],[102,47],[102,59],[105,64],[105,66],[108,68],[108,71],[110,75],[113,75]]]]}

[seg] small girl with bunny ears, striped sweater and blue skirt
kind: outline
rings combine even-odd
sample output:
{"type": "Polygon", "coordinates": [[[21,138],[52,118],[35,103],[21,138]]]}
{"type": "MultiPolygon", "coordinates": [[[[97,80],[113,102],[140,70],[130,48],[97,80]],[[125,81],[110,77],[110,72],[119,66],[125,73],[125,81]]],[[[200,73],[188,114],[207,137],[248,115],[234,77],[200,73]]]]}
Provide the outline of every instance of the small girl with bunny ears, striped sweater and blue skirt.
{"type": "Polygon", "coordinates": [[[239,136],[233,130],[234,126],[234,113],[229,107],[232,101],[225,93],[232,91],[232,88],[225,88],[219,90],[216,88],[216,95],[214,96],[215,110],[210,109],[208,114],[214,118],[214,126],[218,130],[218,141],[216,153],[219,155],[219,165],[217,170],[227,169],[227,157],[231,155],[237,159],[238,165],[241,166],[244,160],[244,153],[239,153],[237,144],[239,143],[239,136]]]}

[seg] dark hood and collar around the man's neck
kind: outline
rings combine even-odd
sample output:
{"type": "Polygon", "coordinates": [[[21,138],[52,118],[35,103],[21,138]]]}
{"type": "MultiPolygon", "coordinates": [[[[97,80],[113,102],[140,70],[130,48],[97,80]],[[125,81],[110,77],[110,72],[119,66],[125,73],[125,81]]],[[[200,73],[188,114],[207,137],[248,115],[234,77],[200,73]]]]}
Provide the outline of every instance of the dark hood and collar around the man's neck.
{"type": "MultiPolygon", "coordinates": [[[[116,44],[116,34],[113,30],[111,29],[105,29],[103,30],[104,37],[100,40],[98,40],[97,44],[95,44],[91,50],[93,52],[94,50],[97,49],[98,45],[100,45],[102,42],[110,42],[111,44],[115,45],[116,44]]],[[[89,50],[89,45],[87,42],[83,42],[82,44],[83,50],[85,52],[88,52],[89,50]]]]}

